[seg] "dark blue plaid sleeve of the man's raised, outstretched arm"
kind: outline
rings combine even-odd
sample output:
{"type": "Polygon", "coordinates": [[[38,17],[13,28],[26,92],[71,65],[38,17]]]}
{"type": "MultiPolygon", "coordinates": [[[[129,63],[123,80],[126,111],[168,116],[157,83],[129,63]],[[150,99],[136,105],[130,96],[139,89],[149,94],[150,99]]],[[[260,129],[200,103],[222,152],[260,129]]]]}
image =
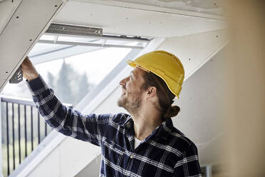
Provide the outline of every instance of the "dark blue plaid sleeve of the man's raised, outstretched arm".
{"type": "Polygon", "coordinates": [[[101,145],[111,114],[83,115],[64,106],[41,75],[31,81],[26,80],[26,84],[31,90],[36,108],[49,126],[66,136],[88,141],[96,146],[101,145]]]}

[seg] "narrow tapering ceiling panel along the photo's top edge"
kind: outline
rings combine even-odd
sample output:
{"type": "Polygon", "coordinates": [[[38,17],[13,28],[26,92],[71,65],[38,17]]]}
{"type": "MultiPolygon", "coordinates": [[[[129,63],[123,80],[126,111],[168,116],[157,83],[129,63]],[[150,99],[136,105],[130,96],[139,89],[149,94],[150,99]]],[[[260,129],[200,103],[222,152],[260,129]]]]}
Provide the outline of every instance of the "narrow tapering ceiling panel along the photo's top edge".
{"type": "Polygon", "coordinates": [[[167,13],[197,16],[209,19],[225,19],[226,7],[222,0],[70,0],[83,1],[93,4],[120,6],[128,9],[142,9],[147,11],[163,11],[167,13]]]}

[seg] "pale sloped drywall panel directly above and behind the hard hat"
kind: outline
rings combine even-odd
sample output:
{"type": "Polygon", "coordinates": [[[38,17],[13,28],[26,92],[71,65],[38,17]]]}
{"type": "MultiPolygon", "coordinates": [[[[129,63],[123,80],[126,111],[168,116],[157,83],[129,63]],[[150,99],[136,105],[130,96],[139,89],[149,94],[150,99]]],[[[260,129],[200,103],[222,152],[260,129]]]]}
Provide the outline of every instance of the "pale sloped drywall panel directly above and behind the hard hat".
{"type": "Polygon", "coordinates": [[[185,79],[187,79],[222,49],[228,41],[227,30],[222,29],[183,37],[167,38],[157,50],[165,50],[175,54],[182,61],[185,69],[185,79]]]}

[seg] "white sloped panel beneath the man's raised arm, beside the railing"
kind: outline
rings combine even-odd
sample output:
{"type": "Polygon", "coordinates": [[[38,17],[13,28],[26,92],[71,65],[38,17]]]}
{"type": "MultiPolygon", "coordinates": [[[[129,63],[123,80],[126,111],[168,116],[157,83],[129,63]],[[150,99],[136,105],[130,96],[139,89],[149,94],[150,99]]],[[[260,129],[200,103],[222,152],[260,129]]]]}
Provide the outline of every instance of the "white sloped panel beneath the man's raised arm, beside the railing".
{"type": "Polygon", "coordinates": [[[30,173],[24,174],[28,177],[72,177],[93,161],[99,154],[100,147],[85,141],[66,137],[38,166],[33,168],[30,173]]]}

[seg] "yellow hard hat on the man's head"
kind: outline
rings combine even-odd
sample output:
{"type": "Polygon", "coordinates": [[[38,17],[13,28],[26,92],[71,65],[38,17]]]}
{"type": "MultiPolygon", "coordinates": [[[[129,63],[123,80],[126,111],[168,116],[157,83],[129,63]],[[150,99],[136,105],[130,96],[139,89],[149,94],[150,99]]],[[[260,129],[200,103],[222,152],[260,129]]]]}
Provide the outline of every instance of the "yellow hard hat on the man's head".
{"type": "Polygon", "coordinates": [[[135,61],[128,60],[127,63],[133,68],[137,66],[160,76],[170,91],[180,98],[185,71],[177,56],[167,51],[152,51],[139,56],[135,61]]]}

